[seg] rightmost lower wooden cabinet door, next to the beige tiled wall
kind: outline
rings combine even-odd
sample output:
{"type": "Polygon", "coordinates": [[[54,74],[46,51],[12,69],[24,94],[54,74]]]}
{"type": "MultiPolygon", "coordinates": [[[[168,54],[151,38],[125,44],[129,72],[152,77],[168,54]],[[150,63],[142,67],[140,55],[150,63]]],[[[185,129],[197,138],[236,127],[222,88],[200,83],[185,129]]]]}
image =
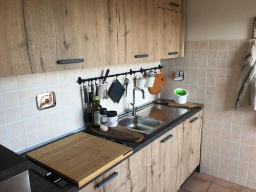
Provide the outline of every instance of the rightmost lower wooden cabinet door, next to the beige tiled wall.
{"type": "Polygon", "coordinates": [[[181,184],[200,163],[202,114],[200,111],[181,124],[181,184]]]}

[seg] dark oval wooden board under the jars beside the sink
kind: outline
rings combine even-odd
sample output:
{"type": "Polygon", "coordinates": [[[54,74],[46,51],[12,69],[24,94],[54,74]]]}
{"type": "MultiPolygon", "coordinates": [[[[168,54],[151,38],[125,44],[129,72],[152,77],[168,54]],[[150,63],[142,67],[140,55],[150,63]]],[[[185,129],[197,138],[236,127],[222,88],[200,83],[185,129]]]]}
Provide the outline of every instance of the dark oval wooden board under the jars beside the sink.
{"type": "Polygon", "coordinates": [[[116,127],[109,127],[109,130],[105,132],[100,131],[100,129],[96,127],[91,127],[90,129],[99,135],[120,141],[139,142],[144,138],[142,134],[120,125],[117,125],[116,127]]]}

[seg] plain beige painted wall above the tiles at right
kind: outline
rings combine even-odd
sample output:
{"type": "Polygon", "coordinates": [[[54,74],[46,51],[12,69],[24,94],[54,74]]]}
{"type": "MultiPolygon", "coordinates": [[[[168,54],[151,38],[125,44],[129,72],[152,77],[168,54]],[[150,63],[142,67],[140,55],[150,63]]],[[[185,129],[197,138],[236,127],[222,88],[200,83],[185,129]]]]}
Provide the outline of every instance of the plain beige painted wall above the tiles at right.
{"type": "Polygon", "coordinates": [[[186,41],[248,39],[255,0],[187,0],[186,41]]]}

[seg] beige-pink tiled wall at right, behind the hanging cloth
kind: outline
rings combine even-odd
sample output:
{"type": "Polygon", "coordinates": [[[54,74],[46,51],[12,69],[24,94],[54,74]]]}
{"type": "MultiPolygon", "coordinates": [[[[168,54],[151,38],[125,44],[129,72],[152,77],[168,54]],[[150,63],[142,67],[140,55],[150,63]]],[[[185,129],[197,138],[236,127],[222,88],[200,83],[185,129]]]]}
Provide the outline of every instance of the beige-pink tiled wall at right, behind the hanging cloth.
{"type": "Polygon", "coordinates": [[[190,101],[206,103],[202,172],[256,189],[256,112],[234,110],[248,48],[244,39],[186,42],[184,58],[161,61],[168,72],[161,96],[173,98],[182,87],[190,101]],[[185,71],[184,81],[172,80],[174,69],[185,71]]]}

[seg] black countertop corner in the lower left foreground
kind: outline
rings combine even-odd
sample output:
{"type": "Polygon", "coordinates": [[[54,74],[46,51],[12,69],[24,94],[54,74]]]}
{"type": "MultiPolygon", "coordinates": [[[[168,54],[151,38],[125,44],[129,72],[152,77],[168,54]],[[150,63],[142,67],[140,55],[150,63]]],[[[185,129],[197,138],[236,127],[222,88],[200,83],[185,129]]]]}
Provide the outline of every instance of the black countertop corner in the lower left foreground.
{"type": "Polygon", "coordinates": [[[30,168],[29,161],[0,145],[0,183],[30,168]]]}

